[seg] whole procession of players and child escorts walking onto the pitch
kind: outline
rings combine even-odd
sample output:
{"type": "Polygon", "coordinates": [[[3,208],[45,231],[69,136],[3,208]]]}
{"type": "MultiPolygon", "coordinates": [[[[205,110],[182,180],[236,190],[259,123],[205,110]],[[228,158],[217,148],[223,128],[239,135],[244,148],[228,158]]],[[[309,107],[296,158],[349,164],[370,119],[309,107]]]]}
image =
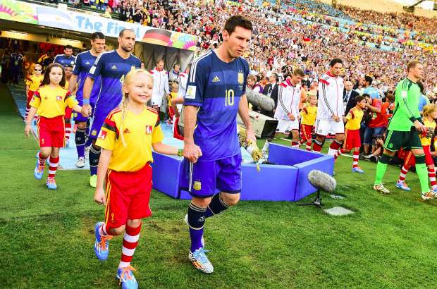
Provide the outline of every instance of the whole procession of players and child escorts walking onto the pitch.
{"type": "MultiPolygon", "coordinates": [[[[133,30],[122,30],[118,48],[106,52],[104,35],[95,32],[89,51],[74,57],[73,50],[66,47],[64,54],[56,56],[54,63],[45,68],[44,74],[43,67],[36,65],[34,74],[27,80],[25,135],[30,135],[31,123],[38,116],[40,149],[34,176],[42,179],[48,161],[46,184],[49,189],[57,188],[59,149],[68,142],[72,128],[70,113],[74,113],[77,166],[85,166],[85,149],[89,147],[94,201],[105,206],[104,221],[94,227],[94,252],[98,259],[106,260],[110,240],[123,234],[121,261],[116,272],[123,288],[137,288],[135,269],[130,262],[142,219],[152,215],[149,208],[152,149],[184,156],[183,183],[192,195],[185,216],[191,241],[188,257],[196,269],[205,273],[214,271],[204,250],[204,226],[207,219],[240,200],[242,158],[237,114],[247,129],[246,142],[256,142],[245,95],[253,79],[249,64],[241,57],[252,38],[252,23],[242,16],[233,16],[226,21],[222,36],[221,46],[195,59],[189,74],[181,74],[185,79],[181,85],[181,91],[185,92],[183,149],[162,143],[164,135],[157,110],[162,99],[153,96],[156,91],[169,93],[169,87],[161,82],[166,77],[164,63],[159,61],[152,71],[140,68],[140,59],[133,56],[136,37],[133,30]]],[[[290,77],[278,85],[278,105],[274,111],[278,133],[290,132],[293,147],[303,144],[304,149],[315,152],[321,152],[326,137],[334,135],[328,154],[337,159],[352,152],[352,172],[364,173],[358,166],[362,146],[359,130],[364,109],[375,108],[369,95],[355,96],[354,104],[345,113],[342,97],[345,84],[340,76],[343,61],[333,59],[328,65],[326,73],[319,78],[316,93],[309,94],[302,107],[301,82],[305,77],[302,69],[294,68],[290,77]]],[[[376,166],[374,190],[388,193],[382,183],[383,176],[390,159],[402,149],[406,155],[398,187],[408,189],[405,173],[414,165],[421,184],[421,198],[428,200],[436,197],[437,191],[429,149],[437,106],[430,104],[425,106],[423,116],[419,113],[421,92],[417,83],[423,69],[419,61],[411,61],[407,64],[407,77],[396,87],[393,116],[376,166]]],[[[176,97],[175,91],[173,94],[176,97]]],[[[176,106],[173,109],[179,114],[176,106]]]]}

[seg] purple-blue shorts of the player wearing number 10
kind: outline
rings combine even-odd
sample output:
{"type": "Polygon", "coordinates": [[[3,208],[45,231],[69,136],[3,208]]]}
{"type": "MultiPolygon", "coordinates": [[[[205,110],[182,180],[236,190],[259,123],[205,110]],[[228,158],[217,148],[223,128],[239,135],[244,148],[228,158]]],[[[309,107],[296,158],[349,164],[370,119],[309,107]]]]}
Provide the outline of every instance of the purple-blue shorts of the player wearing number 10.
{"type": "MultiPolygon", "coordinates": [[[[201,158],[202,159],[202,158],[201,158]]],[[[216,161],[183,161],[181,187],[193,197],[212,197],[217,191],[241,192],[241,154],[216,161]]]]}

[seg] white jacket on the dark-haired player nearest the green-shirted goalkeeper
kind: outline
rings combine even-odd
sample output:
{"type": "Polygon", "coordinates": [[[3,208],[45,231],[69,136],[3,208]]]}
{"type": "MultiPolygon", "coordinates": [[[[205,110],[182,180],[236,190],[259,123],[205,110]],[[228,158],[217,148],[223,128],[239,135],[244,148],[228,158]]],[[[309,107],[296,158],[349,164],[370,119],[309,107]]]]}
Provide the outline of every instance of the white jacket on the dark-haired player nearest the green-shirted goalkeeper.
{"type": "Polygon", "coordinates": [[[332,119],[332,116],[343,116],[343,78],[324,73],[319,80],[319,102],[317,104],[316,119],[332,119]]]}

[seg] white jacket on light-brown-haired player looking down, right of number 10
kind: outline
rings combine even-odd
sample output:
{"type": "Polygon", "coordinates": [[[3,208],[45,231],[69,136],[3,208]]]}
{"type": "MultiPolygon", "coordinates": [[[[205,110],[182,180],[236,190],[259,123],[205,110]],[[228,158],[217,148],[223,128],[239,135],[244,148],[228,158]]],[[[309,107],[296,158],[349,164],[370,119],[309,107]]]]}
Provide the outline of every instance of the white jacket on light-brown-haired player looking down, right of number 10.
{"type": "Polygon", "coordinates": [[[288,120],[288,113],[292,113],[297,119],[302,85],[293,86],[290,80],[286,80],[278,88],[278,106],[276,107],[275,118],[288,120]]]}

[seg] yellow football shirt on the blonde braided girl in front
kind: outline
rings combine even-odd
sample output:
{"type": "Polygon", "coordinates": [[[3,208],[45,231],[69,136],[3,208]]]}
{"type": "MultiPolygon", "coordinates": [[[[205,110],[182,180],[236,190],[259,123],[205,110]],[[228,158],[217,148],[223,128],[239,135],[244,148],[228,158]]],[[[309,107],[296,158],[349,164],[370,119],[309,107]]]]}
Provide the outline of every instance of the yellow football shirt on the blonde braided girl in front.
{"type": "Polygon", "coordinates": [[[164,140],[159,125],[159,116],[153,109],[144,109],[140,114],[125,111],[123,137],[121,140],[121,109],[109,113],[101,127],[96,144],[112,151],[109,169],[113,171],[138,171],[147,162],[153,161],[152,144],[164,140]]]}

